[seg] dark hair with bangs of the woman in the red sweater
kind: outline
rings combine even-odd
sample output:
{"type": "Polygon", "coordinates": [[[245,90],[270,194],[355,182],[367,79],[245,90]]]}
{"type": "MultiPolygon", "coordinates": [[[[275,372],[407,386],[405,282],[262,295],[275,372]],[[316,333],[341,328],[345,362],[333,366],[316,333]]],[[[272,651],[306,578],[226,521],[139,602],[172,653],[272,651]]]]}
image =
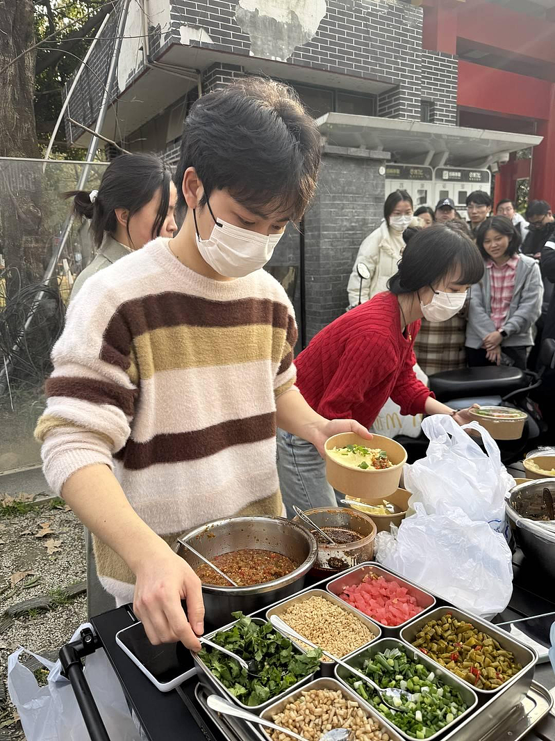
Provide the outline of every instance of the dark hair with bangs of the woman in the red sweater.
{"type": "Polygon", "coordinates": [[[411,237],[388,280],[388,289],[396,296],[436,286],[442,279],[459,271],[457,283],[473,285],[482,279],[484,261],[470,237],[453,222],[436,222],[411,237]]]}

